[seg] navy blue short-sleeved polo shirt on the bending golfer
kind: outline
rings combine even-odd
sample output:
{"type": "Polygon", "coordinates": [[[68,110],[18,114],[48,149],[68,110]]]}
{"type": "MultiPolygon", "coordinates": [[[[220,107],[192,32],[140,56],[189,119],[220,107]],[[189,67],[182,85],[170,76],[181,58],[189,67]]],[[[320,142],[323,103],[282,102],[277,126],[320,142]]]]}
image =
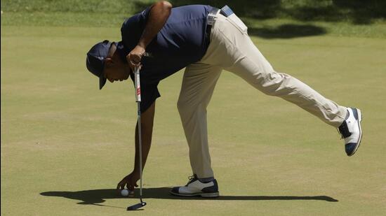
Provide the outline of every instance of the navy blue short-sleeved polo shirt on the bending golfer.
{"type": "MultiPolygon", "coordinates": [[[[133,15],[122,24],[119,54],[124,61],[126,55],[138,44],[147,24],[150,9],[133,15]]],[[[204,57],[208,48],[205,35],[206,17],[211,10],[211,6],[204,5],[171,9],[166,24],[146,48],[150,56],[142,57],[140,71],[142,111],[147,110],[160,96],[157,89],[160,80],[189,64],[199,62],[204,57]]],[[[133,80],[133,76],[131,79],[133,80]]]]}

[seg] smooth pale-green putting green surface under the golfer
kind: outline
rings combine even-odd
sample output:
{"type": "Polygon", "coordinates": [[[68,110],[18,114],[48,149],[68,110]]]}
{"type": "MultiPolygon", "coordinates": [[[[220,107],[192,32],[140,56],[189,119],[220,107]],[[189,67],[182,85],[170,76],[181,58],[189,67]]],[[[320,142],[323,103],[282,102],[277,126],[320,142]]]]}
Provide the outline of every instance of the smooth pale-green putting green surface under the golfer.
{"type": "MultiPolygon", "coordinates": [[[[127,215],[114,194],[131,171],[132,84],[85,68],[117,28],[1,26],[1,215],[127,215]]],[[[159,85],[142,215],[382,215],[386,212],[385,38],[254,38],[277,71],[357,106],[364,138],[345,156],[337,131],[224,71],[208,107],[218,199],[168,187],[190,175],[176,101],[182,71],[159,85]]]]}

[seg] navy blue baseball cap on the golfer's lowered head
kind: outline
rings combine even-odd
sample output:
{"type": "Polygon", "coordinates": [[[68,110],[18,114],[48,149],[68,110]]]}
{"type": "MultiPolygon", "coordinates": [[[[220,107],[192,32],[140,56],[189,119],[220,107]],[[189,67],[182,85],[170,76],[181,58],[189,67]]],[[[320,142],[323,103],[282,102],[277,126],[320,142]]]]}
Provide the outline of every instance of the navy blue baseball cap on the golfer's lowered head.
{"type": "Polygon", "coordinates": [[[109,53],[111,45],[111,42],[105,40],[95,44],[91,50],[87,52],[86,66],[88,71],[93,73],[93,75],[98,76],[99,89],[102,89],[102,87],[106,84],[107,79],[103,74],[103,69],[105,68],[105,58],[109,53]]]}

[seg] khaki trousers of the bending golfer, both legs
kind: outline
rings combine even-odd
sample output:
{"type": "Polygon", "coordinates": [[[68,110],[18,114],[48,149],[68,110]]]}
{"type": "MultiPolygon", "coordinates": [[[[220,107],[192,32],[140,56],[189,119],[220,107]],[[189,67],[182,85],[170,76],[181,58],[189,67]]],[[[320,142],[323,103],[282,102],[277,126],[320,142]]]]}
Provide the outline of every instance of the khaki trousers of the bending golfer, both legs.
{"type": "Polygon", "coordinates": [[[222,69],[239,75],[267,95],[295,103],[333,127],[339,127],[345,119],[345,107],[326,99],[291,75],[274,71],[248,34],[227,17],[218,14],[206,55],[200,62],[185,69],[178,99],[178,111],[189,145],[190,164],[199,178],[213,177],[206,107],[222,69]]]}

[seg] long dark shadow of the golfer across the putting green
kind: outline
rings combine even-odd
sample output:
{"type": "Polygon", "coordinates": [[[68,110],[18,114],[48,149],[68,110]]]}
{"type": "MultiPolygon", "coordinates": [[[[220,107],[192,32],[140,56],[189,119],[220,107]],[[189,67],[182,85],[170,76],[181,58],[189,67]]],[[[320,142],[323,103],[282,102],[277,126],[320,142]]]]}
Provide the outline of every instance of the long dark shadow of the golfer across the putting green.
{"type": "MultiPolygon", "coordinates": [[[[170,192],[171,188],[157,187],[157,188],[145,188],[143,189],[143,199],[190,199],[190,200],[203,200],[201,197],[181,197],[173,196],[170,192]]],[[[135,189],[135,196],[130,199],[137,199],[139,189],[135,189]]],[[[61,196],[67,199],[74,199],[80,201],[78,204],[84,205],[98,205],[98,203],[105,202],[105,199],[127,199],[120,196],[116,189],[90,189],[79,192],[42,192],[42,196],[61,196]]],[[[338,202],[337,199],[333,199],[330,196],[219,196],[218,198],[212,198],[211,200],[255,200],[255,201],[328,201],[338,202]]],[[[103,206],[103,205],[98,205],[103,206]]],[[[110,206],[114,207],[114,206],[110,206]]]]}

